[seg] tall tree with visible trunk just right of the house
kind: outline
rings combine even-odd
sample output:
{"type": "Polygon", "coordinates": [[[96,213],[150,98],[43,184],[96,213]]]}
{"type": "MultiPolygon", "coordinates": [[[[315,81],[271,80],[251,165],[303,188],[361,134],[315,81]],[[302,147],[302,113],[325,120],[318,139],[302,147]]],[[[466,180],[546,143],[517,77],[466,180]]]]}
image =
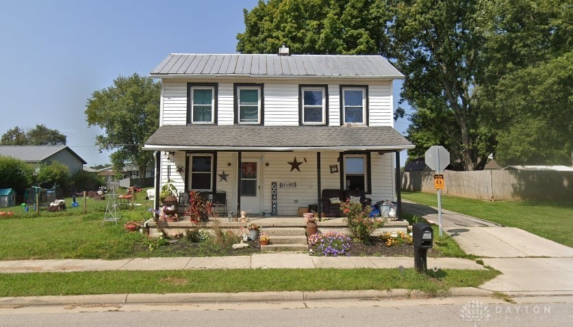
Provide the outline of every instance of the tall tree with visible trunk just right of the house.
{"type": "Polygon", "coordinates": [[[480,170],[494,151],[489,116],[475,98],[483,36],[477,0],[395,1],[392,57],[406,75],[402,98],[413,108],[408,138],[423,155],[443,144],[463,170],[480,170]]]}

